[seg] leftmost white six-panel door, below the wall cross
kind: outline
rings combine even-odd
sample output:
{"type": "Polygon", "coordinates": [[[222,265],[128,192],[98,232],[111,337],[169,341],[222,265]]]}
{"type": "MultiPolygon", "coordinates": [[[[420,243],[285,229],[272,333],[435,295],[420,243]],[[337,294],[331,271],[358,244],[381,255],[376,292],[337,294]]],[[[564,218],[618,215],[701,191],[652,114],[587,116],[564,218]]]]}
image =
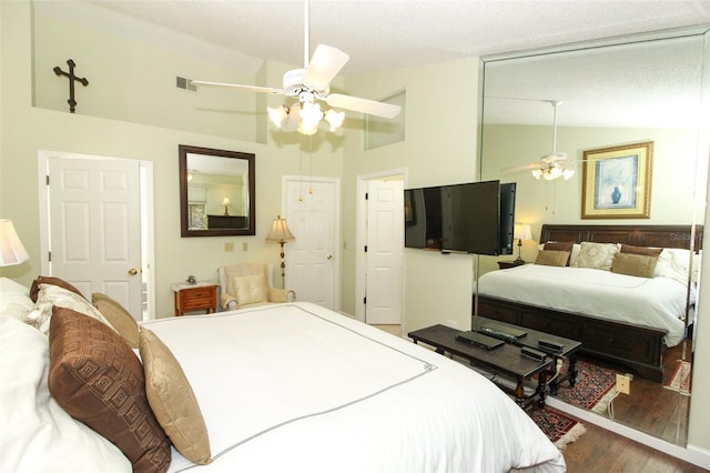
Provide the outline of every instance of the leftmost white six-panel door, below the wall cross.
{"type": "Polygon", "coordinates": [[[52,274],[141,320],[140,163],[49,159],[52,274]]]}

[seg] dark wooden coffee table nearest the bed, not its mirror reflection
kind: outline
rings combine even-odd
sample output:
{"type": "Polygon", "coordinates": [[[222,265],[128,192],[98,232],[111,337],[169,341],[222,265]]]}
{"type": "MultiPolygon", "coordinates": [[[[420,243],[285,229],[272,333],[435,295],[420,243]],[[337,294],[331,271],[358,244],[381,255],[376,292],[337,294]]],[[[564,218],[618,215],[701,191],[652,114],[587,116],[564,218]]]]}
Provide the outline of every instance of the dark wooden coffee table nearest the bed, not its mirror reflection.
{"type": "MultiPolygon", "coordinates": [[[[517,384],[513,390],[515,401],[520,407],[525,407],[535,399],[539,406],[545,405],[547,396],[547,376],[552,365],[551,358],[542,361],[532,360],[520,354],[520,348],[513,344],[504,344],[494,350],[485,350],[478,346],[456,340],[459,330],[446,325],[434,325],[426,329],[409,332],[414,343],[423,342],[436,349],[437,353],[449,353],[449,356],[460,356],[474,365],[491,370],[496,373],[511,376],[517,384]],[[537,388],[531,395],[525,394],[525,380],[537,375],[537,388]]],[[[495,381],[494,381],[495,382],[495,381]]],[[[499,388],[509,391],[509,388],[500,384],[499,388]]]]}

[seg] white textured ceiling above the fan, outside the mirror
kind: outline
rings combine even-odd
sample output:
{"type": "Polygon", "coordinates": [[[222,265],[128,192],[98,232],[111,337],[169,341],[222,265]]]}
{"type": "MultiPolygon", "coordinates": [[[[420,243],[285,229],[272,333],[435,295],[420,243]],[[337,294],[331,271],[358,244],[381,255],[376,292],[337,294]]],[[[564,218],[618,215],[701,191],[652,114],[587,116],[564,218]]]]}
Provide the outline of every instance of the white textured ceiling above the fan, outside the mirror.
{"type": "MultiPolygon", "coordinates": [[[[245,72],[265,59],[304,59],[303,0],[33,3],[40,13],[94,23],[120,13],[151,23],[155,40],[155,26],[165,38],[174,31],[200,38],[231,51],[245,72]]],[[[110,21],[140,33],[115,16],[110,21]]],[[[310,49],[325,43],[347,52],[349,74],[708,22],[708,0],[311,0],[310,49]]]]}

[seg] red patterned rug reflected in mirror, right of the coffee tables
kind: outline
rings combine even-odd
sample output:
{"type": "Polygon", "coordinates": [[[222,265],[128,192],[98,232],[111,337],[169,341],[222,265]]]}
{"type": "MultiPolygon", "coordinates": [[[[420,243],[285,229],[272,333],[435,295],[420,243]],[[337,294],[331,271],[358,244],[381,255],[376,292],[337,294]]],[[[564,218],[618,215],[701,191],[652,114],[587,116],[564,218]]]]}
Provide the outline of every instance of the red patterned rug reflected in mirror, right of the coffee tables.
{"type": "Polygon", "coordinates": [[[616,371],[585,361],[577,361],[577,371],[575,388],[570,388],[569,382],[564,381],[556,397],[577,407],[605,412],[609,402],[617,396],[616,371]]]}

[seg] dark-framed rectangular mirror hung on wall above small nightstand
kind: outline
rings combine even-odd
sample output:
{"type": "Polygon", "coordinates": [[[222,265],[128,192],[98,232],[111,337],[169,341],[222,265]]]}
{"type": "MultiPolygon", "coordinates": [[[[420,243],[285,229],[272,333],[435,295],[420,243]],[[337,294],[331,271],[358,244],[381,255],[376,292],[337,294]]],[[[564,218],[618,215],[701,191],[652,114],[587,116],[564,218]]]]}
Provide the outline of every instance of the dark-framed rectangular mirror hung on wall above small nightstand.
{"type": "Polygon", "coordinates": [[[254,154],[181,144],[182,236],[254,235],[254,154]]]}

